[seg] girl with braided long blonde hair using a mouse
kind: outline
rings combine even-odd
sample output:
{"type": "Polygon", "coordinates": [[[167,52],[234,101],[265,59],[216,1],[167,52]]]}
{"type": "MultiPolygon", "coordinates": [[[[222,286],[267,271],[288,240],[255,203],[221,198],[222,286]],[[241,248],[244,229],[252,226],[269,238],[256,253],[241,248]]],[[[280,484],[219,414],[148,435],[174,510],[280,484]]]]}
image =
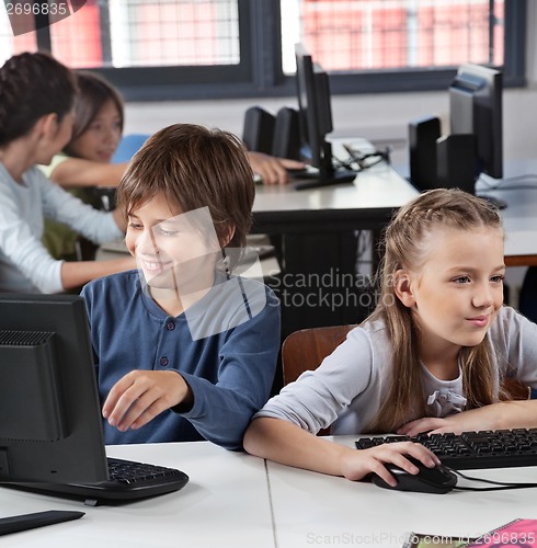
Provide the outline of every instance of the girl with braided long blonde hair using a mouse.
{"type": "Polygon", "coordinates": [[[503,307],[504,232],[485,201],[434,190],[386,230],[376,310],[315,372],[285,387],[244,437],[254,455],[389,484],[434,458],[409,442],[354,450],[333,434],[455,432],[537,426],[537,401],[503,401],[502,380],[537,387],[537,326],[503,307]]]}

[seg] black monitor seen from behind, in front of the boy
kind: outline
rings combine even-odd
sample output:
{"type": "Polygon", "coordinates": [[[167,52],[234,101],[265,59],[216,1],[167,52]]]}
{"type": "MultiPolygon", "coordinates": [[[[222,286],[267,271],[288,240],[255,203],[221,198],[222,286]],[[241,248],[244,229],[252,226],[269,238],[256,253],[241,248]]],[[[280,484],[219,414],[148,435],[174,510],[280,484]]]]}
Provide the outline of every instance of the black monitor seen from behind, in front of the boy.
{"type": "Polygon", "coordinates": [[[0,482],[107,479],[85,305],[0,295],[0,482]]]}

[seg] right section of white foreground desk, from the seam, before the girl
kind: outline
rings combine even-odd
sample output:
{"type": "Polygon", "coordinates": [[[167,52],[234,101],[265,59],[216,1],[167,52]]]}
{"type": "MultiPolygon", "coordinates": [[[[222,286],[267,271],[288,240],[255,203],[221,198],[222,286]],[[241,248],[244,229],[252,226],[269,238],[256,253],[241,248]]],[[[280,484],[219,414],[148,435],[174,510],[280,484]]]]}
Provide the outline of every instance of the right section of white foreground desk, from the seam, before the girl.
{"type": "MultiPolygon", "coordinates": [[[[344,436],[338,442],[353,445],[355,438],[344,436]]],[[[466,472],[499,481],[537,482],[537,467],[466,472]]],[[[537,518],[535,489],[409,493],[275,463],[268,463],[268,477],[278,548],[401,548],[410,532],[478,536],[516,517],[537,518]]],[[[459,484],[466,483],[459,479],[459,484]]]]}

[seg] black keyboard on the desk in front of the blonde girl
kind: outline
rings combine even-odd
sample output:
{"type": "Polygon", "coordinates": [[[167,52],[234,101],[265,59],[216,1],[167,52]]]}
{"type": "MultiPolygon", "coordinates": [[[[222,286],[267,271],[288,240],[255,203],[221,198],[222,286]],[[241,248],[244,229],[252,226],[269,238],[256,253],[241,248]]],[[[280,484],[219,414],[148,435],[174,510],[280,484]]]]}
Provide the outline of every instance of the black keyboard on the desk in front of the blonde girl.
{"type": "Polygon", "coordinates": [[[414,442],[431,449],[442,464],[456,470],[537,466],[537,429],[462,432],[462,434],[420,434],[409,436],[362,437],[358,449],[382,443],[414,442]]]}

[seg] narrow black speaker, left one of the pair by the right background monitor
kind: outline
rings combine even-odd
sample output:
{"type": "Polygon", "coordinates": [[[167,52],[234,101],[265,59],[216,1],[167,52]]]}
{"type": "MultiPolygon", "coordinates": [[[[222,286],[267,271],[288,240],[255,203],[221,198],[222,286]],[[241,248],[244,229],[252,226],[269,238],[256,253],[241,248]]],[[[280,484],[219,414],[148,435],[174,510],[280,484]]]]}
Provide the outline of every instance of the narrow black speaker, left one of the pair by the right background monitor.
{"type": "Polygon", "coordinates": [[[410,180],[420,191],[436,189],[436,139],[441,136],[441,121],[426,116],[409,124],[410,180]]]}

